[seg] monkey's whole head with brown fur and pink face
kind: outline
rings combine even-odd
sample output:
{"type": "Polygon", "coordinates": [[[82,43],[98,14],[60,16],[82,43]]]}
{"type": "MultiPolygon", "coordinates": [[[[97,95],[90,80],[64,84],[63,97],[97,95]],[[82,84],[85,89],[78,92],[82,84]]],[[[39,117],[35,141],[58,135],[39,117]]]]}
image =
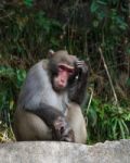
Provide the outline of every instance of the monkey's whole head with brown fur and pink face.
{"type": "Polygon", "coordinates": [[[63,91],[68,86],[69,78],[75,74],[77,58],[67,51],[50,51],[49,72],[55,91],[63,91]]]}

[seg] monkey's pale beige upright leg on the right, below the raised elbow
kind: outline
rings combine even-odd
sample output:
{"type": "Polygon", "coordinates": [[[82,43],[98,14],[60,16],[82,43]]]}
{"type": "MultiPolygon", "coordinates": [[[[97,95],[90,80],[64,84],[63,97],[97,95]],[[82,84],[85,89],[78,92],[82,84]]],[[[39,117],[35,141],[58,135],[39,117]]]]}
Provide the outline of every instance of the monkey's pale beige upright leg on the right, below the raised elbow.
{"type": "Polygon", "coordinates": [[[87,126],[81,112],[81,109],[76,103],[70,103],[67,110],[67,122],[74,130],[75,142],[86,143],[87,126]]]}

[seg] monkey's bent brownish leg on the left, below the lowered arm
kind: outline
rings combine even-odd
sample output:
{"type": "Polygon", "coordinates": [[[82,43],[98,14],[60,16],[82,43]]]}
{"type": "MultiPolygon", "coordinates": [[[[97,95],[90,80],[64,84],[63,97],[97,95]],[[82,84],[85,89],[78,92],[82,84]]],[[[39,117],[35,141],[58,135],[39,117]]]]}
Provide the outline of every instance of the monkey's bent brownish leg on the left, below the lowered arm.
{"type": "Polygon", "coordinates": [[[51,140],[52,131],[37,115],[17,109],[14,114],[14,134],[16,140],[51,140]]]}

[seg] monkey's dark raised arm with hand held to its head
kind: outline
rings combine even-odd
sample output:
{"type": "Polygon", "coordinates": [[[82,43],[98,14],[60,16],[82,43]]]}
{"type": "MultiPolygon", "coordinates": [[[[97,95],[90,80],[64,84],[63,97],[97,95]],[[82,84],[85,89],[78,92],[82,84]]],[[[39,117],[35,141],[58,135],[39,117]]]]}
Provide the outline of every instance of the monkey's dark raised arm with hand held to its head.
{"type": "Polygon", "coordinates": [[[73,80],[73,86],[69,89],[69,99],[81,105],[86,99],[86,90],[88,83],[88,66],[83,61],[77,61],[76,63],[77,73],[73,80]]]}

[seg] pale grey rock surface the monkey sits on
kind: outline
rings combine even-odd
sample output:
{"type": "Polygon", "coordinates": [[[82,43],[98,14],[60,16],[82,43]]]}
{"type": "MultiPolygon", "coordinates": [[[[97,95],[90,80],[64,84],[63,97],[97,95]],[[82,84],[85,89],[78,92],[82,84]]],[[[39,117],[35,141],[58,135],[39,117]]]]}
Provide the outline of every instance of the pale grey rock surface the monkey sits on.
{"type": "Polygon", "coordinates": [[[54,141],[1,143],[0,163],[130,163],[130,140],[94,146],[54,141]]]}

